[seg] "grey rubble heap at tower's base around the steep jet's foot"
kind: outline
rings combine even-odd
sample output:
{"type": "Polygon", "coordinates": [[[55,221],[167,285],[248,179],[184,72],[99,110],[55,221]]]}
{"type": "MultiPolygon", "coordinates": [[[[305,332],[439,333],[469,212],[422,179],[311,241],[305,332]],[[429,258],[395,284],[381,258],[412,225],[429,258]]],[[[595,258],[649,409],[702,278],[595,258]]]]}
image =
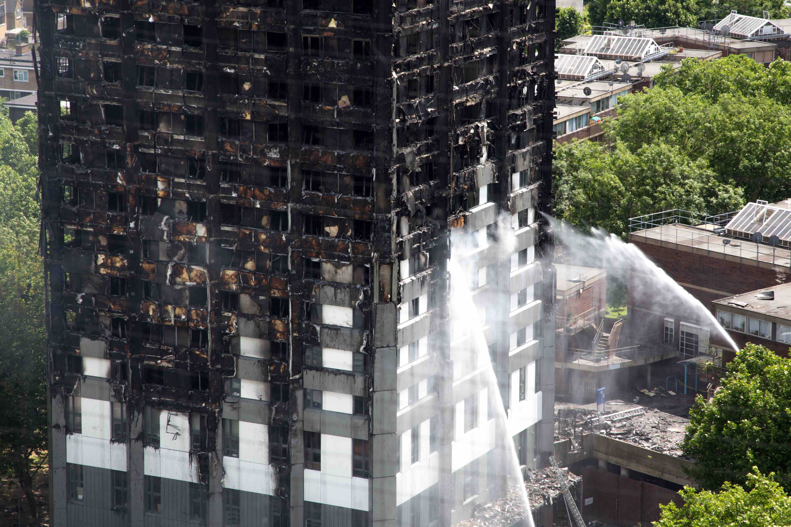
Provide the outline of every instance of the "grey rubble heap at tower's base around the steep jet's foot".
{"type": "MultiPolygon", "coordinates": [[[[562,469],[566,484],[573,489],[582,481],[580,476],[572,474],[568,469],[562,469]]],[[[528,481],[524,484],[528,492],[531,513],[535,513],[543,506],[552,506],[562,498],[558,480],[555,479],[553,469],[547,468],[536,472],[528,472],[528,481]]],[[[524,519],[524,506],[522,497],[517,492],[517,487],[511,487],[505,498],[490,503],[482,503],[475,507],[472,518],[460,521],[455,527],[512,527],[519,525],[524,519]]]]}

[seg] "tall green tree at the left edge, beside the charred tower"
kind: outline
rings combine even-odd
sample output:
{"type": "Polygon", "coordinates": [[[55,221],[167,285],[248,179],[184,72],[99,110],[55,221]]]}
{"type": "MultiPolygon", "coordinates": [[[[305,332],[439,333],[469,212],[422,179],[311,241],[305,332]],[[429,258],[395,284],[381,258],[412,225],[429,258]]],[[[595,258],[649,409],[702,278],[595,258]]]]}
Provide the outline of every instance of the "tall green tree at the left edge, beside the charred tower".
{"type": "Polygon", "coordinates": [[[23,131],[0,113],[0,472],[19,482],[35,518],[36,457],[47,449],[44,269],[36,156],[23,131]]]}

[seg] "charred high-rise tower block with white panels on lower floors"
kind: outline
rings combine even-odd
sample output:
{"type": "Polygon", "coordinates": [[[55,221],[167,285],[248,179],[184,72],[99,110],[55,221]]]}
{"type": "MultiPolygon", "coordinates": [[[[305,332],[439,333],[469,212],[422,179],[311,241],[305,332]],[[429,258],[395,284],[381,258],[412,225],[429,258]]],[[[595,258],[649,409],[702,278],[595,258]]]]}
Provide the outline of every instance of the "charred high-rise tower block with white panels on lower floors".
{"type": "Polygon", "coordinates": [[[52,525],[450,525],[496,497],[509,439],[448,373],[452,230],[540,462],[553,27],[551,0],[38,2],[52,525]]]}

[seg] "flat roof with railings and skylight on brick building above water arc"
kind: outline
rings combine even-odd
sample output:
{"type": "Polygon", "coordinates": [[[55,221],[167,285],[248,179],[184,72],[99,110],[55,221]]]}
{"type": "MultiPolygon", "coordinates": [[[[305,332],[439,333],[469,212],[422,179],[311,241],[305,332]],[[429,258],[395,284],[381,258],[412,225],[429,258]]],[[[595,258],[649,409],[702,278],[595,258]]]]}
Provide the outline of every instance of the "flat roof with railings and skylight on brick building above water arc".
{"type": "Polygon", "coordinates": [[[767,269],[791,267],[791,250],[785,247],[771,247],[747,239],[721,236],[715,234],[713,230],[713,224],[699,227],[683,224],[660,225],[630,232],[629,241],[650,243],[706,256],[714,255],[731,262],[751,262],[750,265],[767,269]]]}

